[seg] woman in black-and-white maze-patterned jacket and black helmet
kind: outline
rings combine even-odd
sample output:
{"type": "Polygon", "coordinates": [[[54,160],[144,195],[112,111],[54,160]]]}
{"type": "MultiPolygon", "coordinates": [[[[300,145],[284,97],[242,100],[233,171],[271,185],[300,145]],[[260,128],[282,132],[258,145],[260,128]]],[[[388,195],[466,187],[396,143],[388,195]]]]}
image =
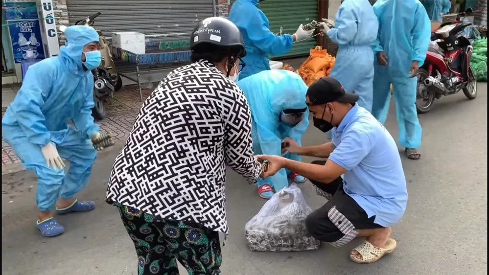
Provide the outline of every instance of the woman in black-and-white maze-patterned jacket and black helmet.
{"type": "Polygon", "coordinates": [[[248,102],[234,83],[245,55],[238,28],[211,17],[191,35],[192,64],[170,72],[146,99],[112,168],[106,201],[134,242],[139,274],[219,274],[219,232],[228,233],[225,173],[249,183],[248,102]]]}

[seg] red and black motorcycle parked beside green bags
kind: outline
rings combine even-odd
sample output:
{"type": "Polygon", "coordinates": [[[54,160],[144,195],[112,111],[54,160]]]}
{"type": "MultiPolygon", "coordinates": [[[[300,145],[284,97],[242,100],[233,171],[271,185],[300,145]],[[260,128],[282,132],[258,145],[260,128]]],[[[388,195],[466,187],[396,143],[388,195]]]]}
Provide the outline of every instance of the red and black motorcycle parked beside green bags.
{"type": "MultiPolygon", "coordinates": [[[[462,15],[470,14],[467,9],[462,15]]],[[[472,45],[462,35],[471,23],[453,21],[443,23],[432,32],[432,42],[426,53],[423,66],[419,69],[416,109],[419,114],[428,113],[435,99],[444,95],[464,92],[468,99],[477,96],[477,79],[474,69],[470,66],[472,45]],[[425,103],[422,106],[418,100],[425,103]]]]}

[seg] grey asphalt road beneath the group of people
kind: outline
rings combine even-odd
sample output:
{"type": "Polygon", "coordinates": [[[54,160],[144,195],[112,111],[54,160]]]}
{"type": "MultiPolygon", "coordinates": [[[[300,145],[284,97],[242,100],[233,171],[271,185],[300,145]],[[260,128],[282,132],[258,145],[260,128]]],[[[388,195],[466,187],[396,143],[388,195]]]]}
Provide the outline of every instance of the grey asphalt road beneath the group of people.
{"type": "MultiPolygon", "coordinates": [[[[244,225],[263,205],[256,189],[228,173],[227,201],[231,235],[223,248],[224,275],[486,275],[487,268],[487,84],[467,100],[463,93],[442,98],[432,111],[420,115],[422,159],[402,161],[409,202],[402,221],[393,229],[394,253],[371,265],[349,260],[357,244],[336,249],[323,244],[318,251],[250,252],[244,225]]],[[[312,124],[312,123],[311,123],[312,124]]],[[[387,129],[397,139],[394,108],[387,129]]],[[[305,145],[324,141],[310,128],[305,145]]],[[[35,177],[19,172],[2,177],[2,251],[4,275],[135,275],[137,260],[132,241],[113,206],[104,203],[106,182],[120,149],[99,155],[83,199],[97,208],[59,217],[65,234],[47,239],[35,228],[35,177]]],[[[401,150],[401,148],[400,148],[401,150]]],[[[307,159],[306,159],[307,160],[307,159]]],[[[312,207],[324,201],[311,183],[301,187],[312,207]]],[[[185,275],[186,272],[182,272],[185,275]]]]}

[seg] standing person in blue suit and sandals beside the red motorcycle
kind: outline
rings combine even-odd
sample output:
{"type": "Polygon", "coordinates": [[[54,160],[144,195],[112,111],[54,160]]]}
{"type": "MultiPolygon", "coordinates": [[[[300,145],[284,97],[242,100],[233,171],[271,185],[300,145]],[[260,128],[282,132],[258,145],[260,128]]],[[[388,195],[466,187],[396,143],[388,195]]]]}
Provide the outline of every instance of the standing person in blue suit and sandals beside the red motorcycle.
{"type": "Polygon", "coordinates": [[[423,65],[430,43],[431,23],[418,0],[378,0],[373,11],[379,32],[373,51],[377,56],[373,78],[372,115],[382,124],[387,120],[394,87],[399,143],[409,159],[421,157],[421,125],[416,111],[415,77],[423,65]]]}

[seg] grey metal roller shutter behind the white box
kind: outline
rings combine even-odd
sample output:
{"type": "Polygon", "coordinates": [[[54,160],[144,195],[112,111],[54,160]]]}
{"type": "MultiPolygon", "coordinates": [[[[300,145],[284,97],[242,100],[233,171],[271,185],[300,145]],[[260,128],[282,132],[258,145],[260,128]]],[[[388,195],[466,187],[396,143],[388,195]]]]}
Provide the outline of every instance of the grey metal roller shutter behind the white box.
{"type": "Polygon", "coordinates": [[[93,26],[108,39],[137,31],[150,41],[189,40],[196,23],[214,14],[213,0],[67,0],[67,7],[70,24],[100,12],[93,26]]]}

